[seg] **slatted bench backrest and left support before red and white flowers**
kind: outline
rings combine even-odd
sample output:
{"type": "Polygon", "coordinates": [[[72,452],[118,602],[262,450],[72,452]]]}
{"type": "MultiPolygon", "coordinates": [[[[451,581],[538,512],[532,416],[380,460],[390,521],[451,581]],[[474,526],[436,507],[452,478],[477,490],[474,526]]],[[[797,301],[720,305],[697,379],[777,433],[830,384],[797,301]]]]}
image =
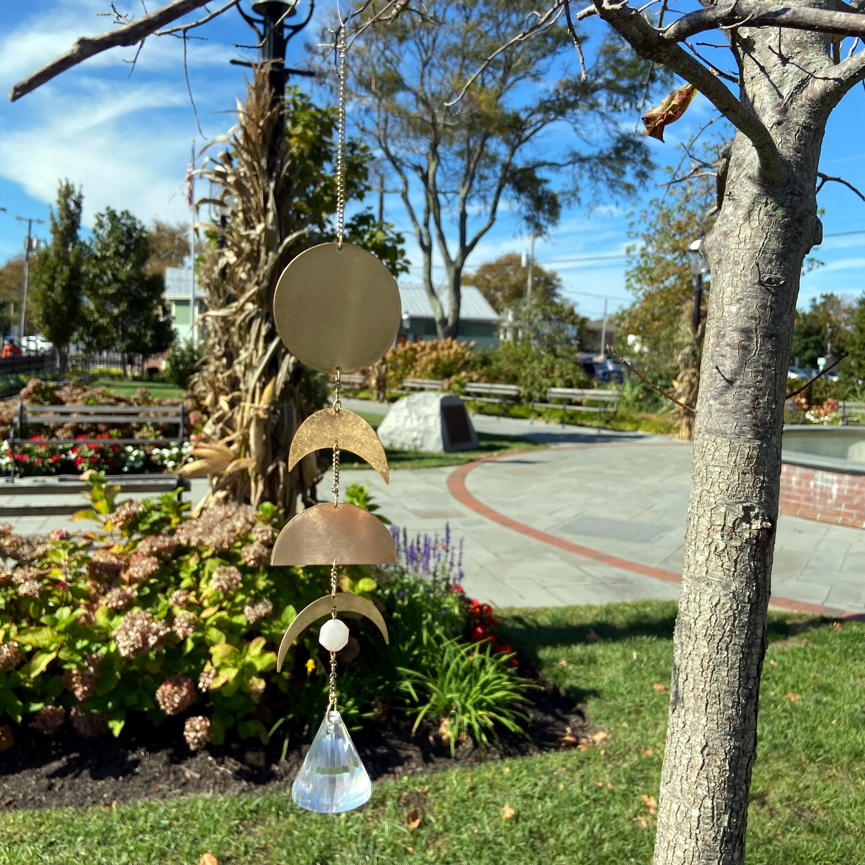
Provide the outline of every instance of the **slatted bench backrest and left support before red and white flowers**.
{"type": "Polygon", "coordinates": [[[10,426],[9,448],[13,457],[11,477],[16,477],[16,445],[183,445],[186,407],[179,406],[25,406],[18,403],[16,419],[10,426]],[[175,439],[44,439],[34,443],[23,438],[30,424],[176,424],[175,439]],[[16,435],[17,432],[17,435],[16,435]]]}

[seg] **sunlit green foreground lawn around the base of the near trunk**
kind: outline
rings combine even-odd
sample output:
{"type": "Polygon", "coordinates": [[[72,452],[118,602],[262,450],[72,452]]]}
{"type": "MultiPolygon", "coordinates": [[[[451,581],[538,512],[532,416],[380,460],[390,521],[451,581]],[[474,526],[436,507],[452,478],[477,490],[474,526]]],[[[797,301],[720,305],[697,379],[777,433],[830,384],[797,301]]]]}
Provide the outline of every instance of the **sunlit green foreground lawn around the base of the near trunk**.
{"type": "MultiPolygon", "coordinates": [[[[505,638],[585,702],[603,746],[380,782],[341,817],[273,794],[14,812],[0,817],[0,865],[197,865],[205,852],[220,865],[649,865],[641,797],[657,797],[669,691],[653,686],[670,682],[675,612],[633,602],[503,614],[505,638]]],[[[865,858],[863,638],[865,625],[772,614],[748,865],[865,858]]]]}

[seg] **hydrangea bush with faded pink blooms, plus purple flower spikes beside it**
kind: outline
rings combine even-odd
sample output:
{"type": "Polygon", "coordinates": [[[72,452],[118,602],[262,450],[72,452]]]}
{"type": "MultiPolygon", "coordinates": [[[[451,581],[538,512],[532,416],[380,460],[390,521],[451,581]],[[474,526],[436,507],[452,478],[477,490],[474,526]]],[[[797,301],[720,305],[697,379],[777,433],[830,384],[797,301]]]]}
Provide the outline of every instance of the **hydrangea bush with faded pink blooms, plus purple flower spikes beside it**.
{"type": "MultiPolygon", "coordinates": [[[[227,731],[266,742],[314,729],[328,690],[317,629],[279,672],[276,651],[297,612],[330,591],[330,568],[270,567],[278,509],[223,503],[193,517],[176,493],[118,502],[104,475],[90,480],[91,507],[74,518],[94,530],[24,537],[0,525],[0,721],[94,736],[119,735],[131,713],[179,716],[193,749],[227,731]]],[[[337,657],[340,709],[354,723],[410,709],[406,670],[439,668],[475,621],[450,529],[394,537],[400,564],[340,578],[373,600],[390,636],[386,646],[375,625],[349,619],[337,657]]],[[[484,642],[486,655],[503,650],[491,631],[484,642]]]]}

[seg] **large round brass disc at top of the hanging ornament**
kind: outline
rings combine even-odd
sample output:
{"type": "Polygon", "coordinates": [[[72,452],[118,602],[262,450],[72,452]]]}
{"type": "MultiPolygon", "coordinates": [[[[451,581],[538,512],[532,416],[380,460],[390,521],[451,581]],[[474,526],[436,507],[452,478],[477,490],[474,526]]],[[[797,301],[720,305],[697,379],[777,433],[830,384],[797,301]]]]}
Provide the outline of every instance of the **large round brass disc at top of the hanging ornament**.
{"type": "Polygon", "coordinates": [[[305,250],[282,272],[273,317],[285,347],[319,372],[353,373],[388,351],[400,330],[400,292],[373,253],[343,243],[305,250]]]}

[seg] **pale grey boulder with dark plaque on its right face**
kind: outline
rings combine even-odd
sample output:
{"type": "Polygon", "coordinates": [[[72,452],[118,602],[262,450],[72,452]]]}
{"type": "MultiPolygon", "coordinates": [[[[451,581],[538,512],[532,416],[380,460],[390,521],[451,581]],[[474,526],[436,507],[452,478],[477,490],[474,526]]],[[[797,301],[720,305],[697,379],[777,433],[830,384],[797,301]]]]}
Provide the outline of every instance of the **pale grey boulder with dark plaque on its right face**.
{"type": "Polygon", "coordinates": [[[413,394],[390,407],[378,437],[385,447],[446,453],[477,447],[465,403],[455,394],[413,394]]]}

